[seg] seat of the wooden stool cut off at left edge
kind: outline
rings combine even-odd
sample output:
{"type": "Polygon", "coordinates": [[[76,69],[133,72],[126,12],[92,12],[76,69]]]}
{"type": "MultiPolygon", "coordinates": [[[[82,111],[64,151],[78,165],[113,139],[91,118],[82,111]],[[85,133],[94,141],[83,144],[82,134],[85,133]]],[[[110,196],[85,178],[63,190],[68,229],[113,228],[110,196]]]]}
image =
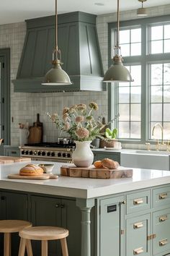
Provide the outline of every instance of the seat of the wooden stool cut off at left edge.
{"type": "Polygon", "coordinates": [[[16,233],[29,226],[32,226],[32,223],[28,221],[3,220],[0,221],[0,233],[16,233]]]}

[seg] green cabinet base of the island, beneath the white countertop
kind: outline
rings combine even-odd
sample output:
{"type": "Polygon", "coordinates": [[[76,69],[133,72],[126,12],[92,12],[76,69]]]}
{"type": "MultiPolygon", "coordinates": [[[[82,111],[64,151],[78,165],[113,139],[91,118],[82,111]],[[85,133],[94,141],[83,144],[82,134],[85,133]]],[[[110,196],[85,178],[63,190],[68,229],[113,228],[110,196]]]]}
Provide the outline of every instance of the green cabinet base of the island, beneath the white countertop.
{"type": "MultiPolygon", "coordinates": [[[[69,255],[81,255],[81,211],[76,199],[7,189],[1,189],[0,198],[1,219],[66,227],[69,255]]],[[[97,197],[90,221],[91,256],[169,256],[170,185],[97,197]]],[[[19,237],[14,234],[12,256],[17,256],[18,247],[19,237]]],[[[40,256],[40,242],[32,242],[32,247],[40,256]]],[[[48,256],[56,252],[61,256],[60,244],[49,242],[48,256]]]]}

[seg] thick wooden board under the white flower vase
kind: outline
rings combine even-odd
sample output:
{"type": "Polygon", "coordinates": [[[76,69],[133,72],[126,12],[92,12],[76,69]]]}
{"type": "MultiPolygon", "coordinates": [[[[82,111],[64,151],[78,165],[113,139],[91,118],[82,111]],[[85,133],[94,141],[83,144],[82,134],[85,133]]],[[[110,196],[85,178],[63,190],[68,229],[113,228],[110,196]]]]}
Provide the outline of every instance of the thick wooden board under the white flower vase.
{"type": "Polygon", "coordinates": [[[61,175],[70,177],[83,177],[93,179],[120,179],[133,176],[133,169],[120,166],[117,169],[89,168],[76,166],[61,166],[61,175]]]}

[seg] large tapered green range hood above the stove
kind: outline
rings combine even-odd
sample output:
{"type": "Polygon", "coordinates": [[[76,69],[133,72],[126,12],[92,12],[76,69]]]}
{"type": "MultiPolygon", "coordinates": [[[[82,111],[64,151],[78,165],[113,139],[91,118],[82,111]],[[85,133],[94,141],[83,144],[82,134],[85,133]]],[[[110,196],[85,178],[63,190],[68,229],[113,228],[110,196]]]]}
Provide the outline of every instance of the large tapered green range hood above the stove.
{"type": "Polygon", "coordinates": [[[58,15],[58,48],[62,68],[73,85],[41,85],[52,68],[55,47],[55,16],[26,20],[27,34],[19,63],[15,92],[105,90],[97,38],[96,16],[84,12],[58,15]]]}

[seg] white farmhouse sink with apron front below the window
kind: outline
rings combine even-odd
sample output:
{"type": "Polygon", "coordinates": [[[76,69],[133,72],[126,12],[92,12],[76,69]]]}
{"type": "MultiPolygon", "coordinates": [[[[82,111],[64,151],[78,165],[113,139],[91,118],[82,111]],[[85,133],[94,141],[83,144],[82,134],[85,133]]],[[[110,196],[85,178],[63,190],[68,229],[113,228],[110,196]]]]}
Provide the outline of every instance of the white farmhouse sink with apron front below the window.
{"type": "Polygon", "coordinates": [[[121,153],[121,166],[148,168],[169,171],[169,153],[157,151],[135,150],[133,153],[121,153]],[[143,153],[144,152],[144,153],[143,153]]]}

